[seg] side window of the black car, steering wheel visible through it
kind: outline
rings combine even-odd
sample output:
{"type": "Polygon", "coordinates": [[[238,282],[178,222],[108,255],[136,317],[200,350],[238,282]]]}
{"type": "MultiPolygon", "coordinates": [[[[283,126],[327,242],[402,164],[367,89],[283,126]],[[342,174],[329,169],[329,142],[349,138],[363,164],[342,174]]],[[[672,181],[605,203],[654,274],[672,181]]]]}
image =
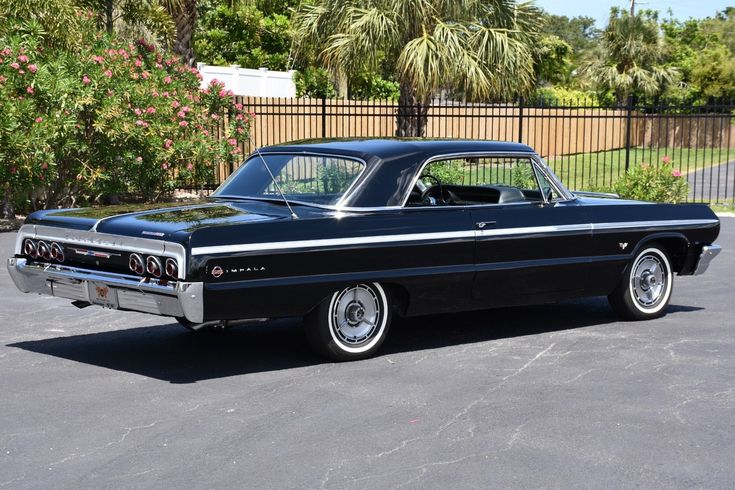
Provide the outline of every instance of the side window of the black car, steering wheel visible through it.
{"type": "Polygon", "coordinates": [[[468,157],[424,167],[408,205],[447,206],[542,202],[558,198],[530,158],[468,157]]]}

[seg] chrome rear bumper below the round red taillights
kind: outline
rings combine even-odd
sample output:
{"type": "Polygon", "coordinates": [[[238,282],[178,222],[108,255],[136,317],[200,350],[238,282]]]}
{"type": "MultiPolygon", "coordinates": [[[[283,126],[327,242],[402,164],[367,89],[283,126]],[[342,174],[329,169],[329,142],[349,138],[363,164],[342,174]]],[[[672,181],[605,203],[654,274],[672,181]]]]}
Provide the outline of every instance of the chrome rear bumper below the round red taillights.
{"type": "Polygon", "coordinates": [[[113,289],[117,308],[155,315],[185,317],[200,323],[204,318],[204,284],[201,282],[151,281],[140,277],[60,264],[28,263],[8,259],[8,271],[18,289],[93,304],[90,284],[113,289]]]}

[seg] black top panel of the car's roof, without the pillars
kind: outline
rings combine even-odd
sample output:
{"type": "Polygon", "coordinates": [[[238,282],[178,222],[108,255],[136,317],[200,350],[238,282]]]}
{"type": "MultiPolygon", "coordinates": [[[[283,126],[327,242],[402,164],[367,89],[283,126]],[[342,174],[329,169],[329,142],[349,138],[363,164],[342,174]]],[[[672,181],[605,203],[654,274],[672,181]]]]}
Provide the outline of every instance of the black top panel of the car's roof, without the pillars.
{"type": "Polygon", "coordinates": [[[430,158],[436,155],[467,152],[533,152],[522,143],[448,138],[333,138],[299,140],[261,148],[263,153],[328,153],[353,156],[365,161],[377,157],[401,161],[402,157],[430,158]]]}

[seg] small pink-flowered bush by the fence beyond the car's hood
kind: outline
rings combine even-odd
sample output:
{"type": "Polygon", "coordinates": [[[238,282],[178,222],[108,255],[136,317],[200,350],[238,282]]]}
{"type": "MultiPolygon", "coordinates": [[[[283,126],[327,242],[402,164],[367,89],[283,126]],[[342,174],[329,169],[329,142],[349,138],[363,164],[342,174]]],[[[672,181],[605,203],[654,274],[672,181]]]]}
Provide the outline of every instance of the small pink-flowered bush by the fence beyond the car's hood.
{"type": "Polygon", "coordinates": [[[689,192],[689,183],[681,171],[673,169],[671,160],[665,156],[661,165],[641,163],[615,183],[615,192],[625,199],[640,201],[680,203],[689,192]]]}

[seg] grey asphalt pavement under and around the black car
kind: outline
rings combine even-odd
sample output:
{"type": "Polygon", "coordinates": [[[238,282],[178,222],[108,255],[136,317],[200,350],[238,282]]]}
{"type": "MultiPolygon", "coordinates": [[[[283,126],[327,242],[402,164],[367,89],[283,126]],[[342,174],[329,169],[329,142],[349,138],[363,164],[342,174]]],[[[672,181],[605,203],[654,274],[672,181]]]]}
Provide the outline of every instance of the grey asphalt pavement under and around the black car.
{"type": "Polygon", "coordinates": [[[314,357],[297,321],[193,334],[24,295],[3,265],[0,487],[732,488],[722,221],[722,254],[677,278],[664,318],[592,299],[402,320],[349,364],[314,357]]]}

